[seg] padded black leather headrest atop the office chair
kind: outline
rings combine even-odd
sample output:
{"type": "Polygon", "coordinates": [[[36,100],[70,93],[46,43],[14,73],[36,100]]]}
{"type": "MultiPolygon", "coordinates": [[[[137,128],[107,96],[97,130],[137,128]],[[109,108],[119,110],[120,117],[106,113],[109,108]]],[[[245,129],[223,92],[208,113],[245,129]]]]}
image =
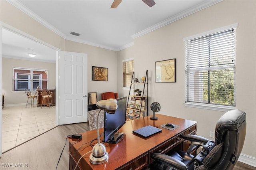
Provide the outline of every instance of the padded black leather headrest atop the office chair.
{"type": "Polygon", "coordinates": [[[218,120],[215,127],[215,144],[222,142],[223,135],[227,130],[236,131],[242,123],[246,123],[246,113],[243,111],[228,111],[218,120]]]}

